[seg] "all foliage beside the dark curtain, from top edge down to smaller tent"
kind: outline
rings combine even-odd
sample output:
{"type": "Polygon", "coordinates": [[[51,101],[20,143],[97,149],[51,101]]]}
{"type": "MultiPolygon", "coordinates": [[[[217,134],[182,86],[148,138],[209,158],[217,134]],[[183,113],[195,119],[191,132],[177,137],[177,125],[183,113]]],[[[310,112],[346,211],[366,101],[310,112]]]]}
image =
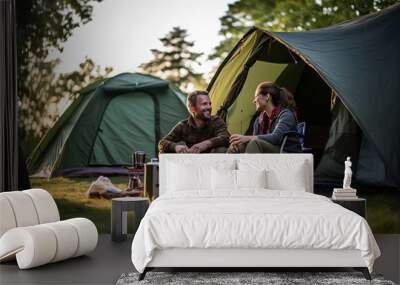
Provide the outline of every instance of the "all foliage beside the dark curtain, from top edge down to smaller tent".
{"type": "Polygon", "coordinates": [[[74,29],[91,21],[94,1],[101,0],[17,1],[18,127],[25,154],[81,88],[112,70],[85,58],[78,71],[57,75],[61,61],[48,59],[52,49],[62,52],[74,29]]]}

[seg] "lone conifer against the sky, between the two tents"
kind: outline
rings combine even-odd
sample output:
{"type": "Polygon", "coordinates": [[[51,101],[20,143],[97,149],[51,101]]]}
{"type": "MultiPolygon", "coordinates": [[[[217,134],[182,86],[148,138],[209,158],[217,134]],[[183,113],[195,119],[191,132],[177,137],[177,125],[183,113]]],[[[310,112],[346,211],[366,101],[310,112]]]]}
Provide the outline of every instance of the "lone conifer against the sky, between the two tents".
{"type": "Polygon", "coordinates": [[[170,80],[184,91],[205,86],[202,75],[193,71],[193,65],[200,64],[198,59],[202,53],[191,51],[194,42],[188,41],[187,37],[185,29],[174,27],[160,39],[164,49],[152,49],[154,58],[139,67],[146,73],[170,80]]]}

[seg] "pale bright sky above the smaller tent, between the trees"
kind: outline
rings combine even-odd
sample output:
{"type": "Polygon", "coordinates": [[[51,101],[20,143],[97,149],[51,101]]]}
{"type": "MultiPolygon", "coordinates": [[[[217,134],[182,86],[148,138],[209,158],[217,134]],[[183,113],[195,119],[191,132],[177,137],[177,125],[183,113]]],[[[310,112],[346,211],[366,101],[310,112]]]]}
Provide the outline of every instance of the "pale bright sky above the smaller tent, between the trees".
{"type": "MultiPolygon", "coordinates": [[[[63,44],[64,51],[52,51],[60,58],[56,72],[78,69],[85,56],[101,67],[113,67],[112,74],[139,71],[152,59],[150,49],[162,48],[159,38],[174,26],[187,29],[193,51],[208,55],[221,40],[219,18],[234,0],[103,0],[93,4],[92,21],[76,28],[63,44]]],[[[203,59],[197,72],[209,73],[216,62],[203,59]]]]}

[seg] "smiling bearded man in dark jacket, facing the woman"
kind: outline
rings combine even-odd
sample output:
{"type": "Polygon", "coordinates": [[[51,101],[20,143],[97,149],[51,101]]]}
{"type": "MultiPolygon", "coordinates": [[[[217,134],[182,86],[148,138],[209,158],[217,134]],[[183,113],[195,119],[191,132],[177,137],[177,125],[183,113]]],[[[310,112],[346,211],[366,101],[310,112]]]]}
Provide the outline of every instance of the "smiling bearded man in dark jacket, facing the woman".
{"type": "Polygon", "coordinates": [[[211,101],[206,91],[194,91],[187,96],[188,119],[179,122],[158,143],[158,150],[175,153],[224,153],[229,145],[225,122],[211,116],[211,101]]]}

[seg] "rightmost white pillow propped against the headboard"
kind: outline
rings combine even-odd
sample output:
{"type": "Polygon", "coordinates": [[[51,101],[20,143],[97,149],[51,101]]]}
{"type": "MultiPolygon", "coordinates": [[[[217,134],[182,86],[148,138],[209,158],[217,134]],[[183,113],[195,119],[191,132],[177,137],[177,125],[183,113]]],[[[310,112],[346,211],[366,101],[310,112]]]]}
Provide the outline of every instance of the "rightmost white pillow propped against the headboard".
{"type": "Polygon", "coordinates": [[[267,187],[273,190],[306,191],[307,173],[305,163],[295,163],[284,171],[269,169],[267,187]]]}

